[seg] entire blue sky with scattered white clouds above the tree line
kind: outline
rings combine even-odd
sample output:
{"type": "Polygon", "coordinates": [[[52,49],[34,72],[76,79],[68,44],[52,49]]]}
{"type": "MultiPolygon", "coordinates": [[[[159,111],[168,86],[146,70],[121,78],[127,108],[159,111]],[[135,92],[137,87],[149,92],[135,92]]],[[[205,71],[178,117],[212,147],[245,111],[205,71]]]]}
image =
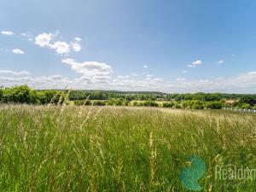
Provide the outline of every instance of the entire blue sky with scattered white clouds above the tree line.
{"type": "Polygon", "coordinates": [[[1,1],[0,85],[256,92],[256,2],[1,1]]]}

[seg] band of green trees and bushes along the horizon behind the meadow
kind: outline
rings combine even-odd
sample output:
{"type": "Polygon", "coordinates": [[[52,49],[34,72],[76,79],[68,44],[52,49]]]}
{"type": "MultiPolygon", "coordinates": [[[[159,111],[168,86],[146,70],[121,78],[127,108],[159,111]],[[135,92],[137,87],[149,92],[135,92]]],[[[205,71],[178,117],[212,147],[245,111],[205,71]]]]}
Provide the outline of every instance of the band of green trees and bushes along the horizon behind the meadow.
{"type": "Polygon", "coordinates": [[[33,90],[27,85],[0,89],[0,102],[26,104],[97,106],[145,106],[163,108],[248,108],[256,109],[256,95],[222,93],[166,94],[114,90],[33,90]]]}

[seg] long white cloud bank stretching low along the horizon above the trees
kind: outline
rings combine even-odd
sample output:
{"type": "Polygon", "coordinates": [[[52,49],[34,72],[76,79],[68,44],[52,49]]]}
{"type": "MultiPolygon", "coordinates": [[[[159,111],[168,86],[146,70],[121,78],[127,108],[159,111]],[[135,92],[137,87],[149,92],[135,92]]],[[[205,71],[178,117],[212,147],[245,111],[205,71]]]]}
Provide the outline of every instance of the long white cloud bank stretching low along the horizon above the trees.
{"type": "Polygon", "coordinates": [[[116,79],[111,76],[111,67],[107,64],[82,62],[72,59],[63,61],[74,71],[81,73],[77,79],[68,79],[61,75],[29,77],[19,76],[26,72],[1,70],[5,75],[18,77],[3,77],[0,75],[0,86],[28,84],[36,89],[63,89],[68,86],[72,89],[111,89],[111,90],[154,90],[163,92],[227,92],[227,93],[254,93],[256,91],[256,72],[241,73],[232,78],[198,79],[187,81],[175,79],[173,82],[164,82],[153,75],[146,75],[143,79],[132,79],[123,75],[116,79]],[[106,72],[107,71],[107,72],[106,72]],[[106,75],[108,74],[108,75],[106,75]]]}

